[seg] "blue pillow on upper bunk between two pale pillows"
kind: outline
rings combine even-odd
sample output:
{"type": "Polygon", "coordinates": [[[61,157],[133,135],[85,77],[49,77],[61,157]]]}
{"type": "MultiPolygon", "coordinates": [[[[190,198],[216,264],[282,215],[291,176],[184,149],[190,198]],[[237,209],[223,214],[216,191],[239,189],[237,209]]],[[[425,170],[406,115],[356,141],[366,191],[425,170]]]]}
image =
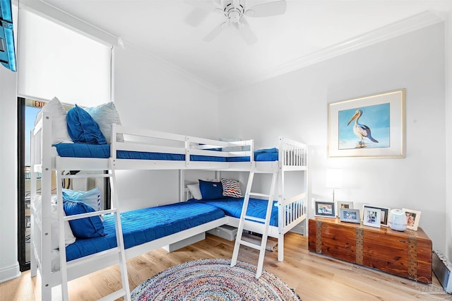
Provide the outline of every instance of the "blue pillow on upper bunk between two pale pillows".
{"type": "Polygon", "coordinates": [[[88,144],[107,143],[97,122],[78,105],[69,109],[66,121],[68,123],[69,136],[71,136],[73,142],[88,144]]]}

